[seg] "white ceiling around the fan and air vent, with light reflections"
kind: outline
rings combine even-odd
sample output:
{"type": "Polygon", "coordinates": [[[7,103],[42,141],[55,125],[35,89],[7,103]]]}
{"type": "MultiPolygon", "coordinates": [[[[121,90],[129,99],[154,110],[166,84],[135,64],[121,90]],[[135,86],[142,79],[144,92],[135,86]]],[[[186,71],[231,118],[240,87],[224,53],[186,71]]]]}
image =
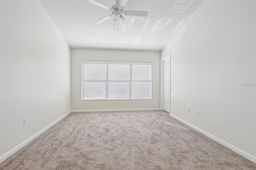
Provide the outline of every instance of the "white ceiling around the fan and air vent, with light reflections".
{"type": "MultiPolygon", "coordinates": [[[[97,0],[111,7],[114,0],[97,0]]],[[[161,51],[204,2],[194,0],[185,12],[171,10],[176,0],[128,0],[125,10],[148,11],[147,17],[126,16],[122,30],[111,18],[96,21],[110,11],[87,0],[40,0],[71,48],[161,51]]]]}

